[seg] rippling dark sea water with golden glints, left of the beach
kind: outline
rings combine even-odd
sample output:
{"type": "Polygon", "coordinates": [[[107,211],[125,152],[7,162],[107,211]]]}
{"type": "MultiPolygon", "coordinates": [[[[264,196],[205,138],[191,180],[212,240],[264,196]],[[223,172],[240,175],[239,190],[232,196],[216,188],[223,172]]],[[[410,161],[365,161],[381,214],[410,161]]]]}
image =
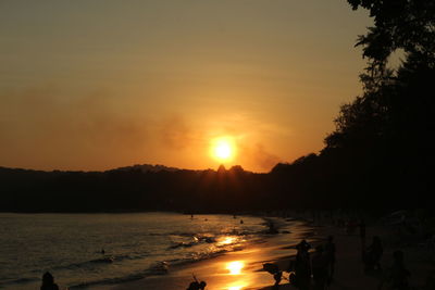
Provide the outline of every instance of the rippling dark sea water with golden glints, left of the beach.
{"type": "Polygon", "coordinates": [[[254,216],[0,213],[0,288],[39,289],[47,270],[60,289],[164,275],[261,239],[265,228],[254,216]]]}

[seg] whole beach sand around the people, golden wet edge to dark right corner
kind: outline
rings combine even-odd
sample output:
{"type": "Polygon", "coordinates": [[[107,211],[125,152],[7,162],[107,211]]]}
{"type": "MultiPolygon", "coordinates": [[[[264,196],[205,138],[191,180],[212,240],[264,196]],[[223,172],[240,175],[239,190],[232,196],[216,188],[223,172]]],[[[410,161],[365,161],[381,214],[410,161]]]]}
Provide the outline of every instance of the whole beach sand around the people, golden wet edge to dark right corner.
{"type": "MultiPolygon", "coordinates": [[[[405,263],[411,272],[410,285],[412,289],[431,289],[426,287],[426,278],[433,275],[434,253],[426,248],[412,245],[393,245],[389,244],[394,231],[381,226],[368,226],[368,243],[373,236],[380,236],[384,241],[384,256],[382,260],[383,268],[388,268],[391,264],[391,254],[394,250],[403,250],[405,263]],[[401,248],[399,248],[401,247],[401,248]]],[[[300,230],[291,232],[291,238],[300,239],[309,237],[310,232],[300,230]]],[[[332,235],[335,238],[337,247],[335,278],[330,289],[361,289],[376,290],[388,289],[385,285],[381,286],[382,273],[364,274],[361,263],[361,239],[356,235],[345,234],[343,228],[334,226],[313,227],[311,242],[319,243],[325,240],[325,237],[332,235]]],[[[135,290],[135,289],[166,289],[182,290],[186,289],[192,281],[192,274],[199,280],[206,280],[207,290],[248,290],[248,289],[272,289],[274,282],[271,274],[262,270],[262,264],[266,262],[277,263],[282,269],[286,269],[290,259],[294,259],[294,244],[286,244],[288,236],[279,234],[272,237],[263,243],[253,243],[237,252],[227,253],[214,259],[183,265],[172,268],[167,275],[159,277],[149,277],[137,281],[126,282],[112,287],[112,290],[135,290]],[[239,274],[231,274],[227,266],[232,262],[241,262],[244,267],[239,274]]],[[[288,274],[285,273],[285,277],[288,274]]],[[[296,289],[286,280],[283,280],[279,289],[296,289]]]]}

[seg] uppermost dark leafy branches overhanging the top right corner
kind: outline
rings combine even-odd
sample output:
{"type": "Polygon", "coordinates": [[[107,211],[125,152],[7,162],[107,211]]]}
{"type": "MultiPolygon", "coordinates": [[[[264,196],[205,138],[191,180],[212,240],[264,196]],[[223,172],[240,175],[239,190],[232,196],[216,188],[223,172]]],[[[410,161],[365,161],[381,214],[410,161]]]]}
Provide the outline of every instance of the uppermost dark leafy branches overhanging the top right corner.
{"type": "Polygon", "coordinates": [[[348,0],[353,10],[368,9],[374,27],[360,36],[363,56],[376,64],[385,64],[397,49],[434,58],[435,1],[433,0],[348,0]]]}

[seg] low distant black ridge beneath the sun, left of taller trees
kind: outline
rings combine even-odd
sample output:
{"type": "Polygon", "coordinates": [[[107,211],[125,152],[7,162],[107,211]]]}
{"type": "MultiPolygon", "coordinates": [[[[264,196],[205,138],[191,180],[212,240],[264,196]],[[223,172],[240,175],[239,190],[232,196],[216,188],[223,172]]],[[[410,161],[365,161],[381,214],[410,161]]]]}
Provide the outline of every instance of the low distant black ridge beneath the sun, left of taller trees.
{"type": "Polygon", "coordinates": [[[229,171],[114,169],[108,172],[37,172],[0,168],[0,211],[236,212],[266,205],[264,174],[229,171]]]}

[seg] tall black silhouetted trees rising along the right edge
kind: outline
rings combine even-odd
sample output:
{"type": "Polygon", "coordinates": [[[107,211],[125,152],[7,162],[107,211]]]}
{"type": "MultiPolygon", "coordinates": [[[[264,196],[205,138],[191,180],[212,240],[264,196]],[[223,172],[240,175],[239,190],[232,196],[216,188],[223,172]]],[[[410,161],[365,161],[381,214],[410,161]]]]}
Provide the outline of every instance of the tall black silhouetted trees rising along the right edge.
{"type": "Polygon", "coordinates": [[[374,27],[356,45],[368,59],[360,76],[363,94],[340,108],[322,155],[334,155],[346,178],[363,177],[366,192],[387,191],[383,198],[372,196],[380,203],[424,204],[435,161],[430,141],[435,133],[435,1],[348,2],[374,18],[374,27]],[[405,59],[393,70],[389,60],[397,51],[405,59]]]}

